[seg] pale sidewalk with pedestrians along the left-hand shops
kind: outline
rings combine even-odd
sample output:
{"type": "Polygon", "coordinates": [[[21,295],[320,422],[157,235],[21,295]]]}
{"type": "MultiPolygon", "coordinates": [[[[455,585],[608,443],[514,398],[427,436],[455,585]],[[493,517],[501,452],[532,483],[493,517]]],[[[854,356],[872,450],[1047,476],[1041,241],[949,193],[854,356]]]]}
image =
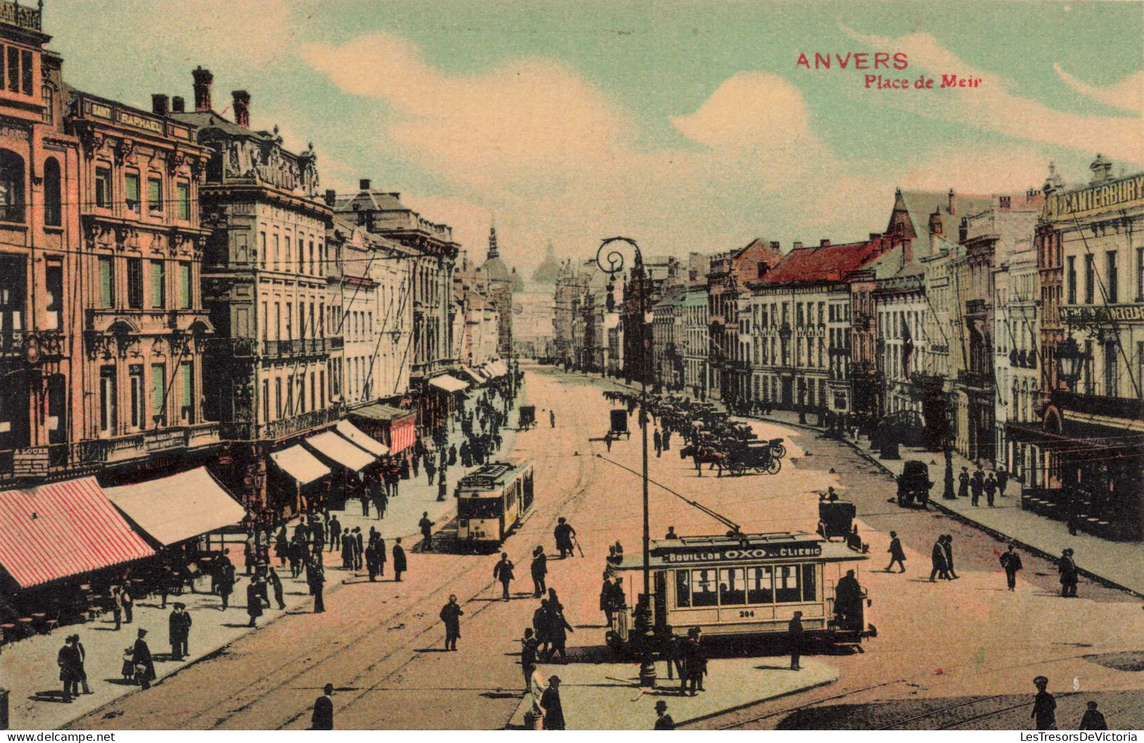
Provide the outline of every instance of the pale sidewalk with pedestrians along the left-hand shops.
{"type": "MultiPolygon", "coordinates": [[[[522,388],[518,403],[525,401],[526,390],[522,388]]],[[[514,406],[515,409],[515,406],[514,406]]],[[[516,422],[516,413],[509,412],[509,421],[516,422]]],[[[450,436],[450,443],[460,443],[460,427],[450,436]]],[[[510,451],[516,430],[503,428],[503,449],[510,451]]],[[[392,539],[402,537],[403,546],[407,553],[413,552],[413,547],[420,542],[421,533],[418,522],[422,512],[429,512],[429,519],[436,522],[435,531],[452,520],[455,513],[455,501],[452,497],[456,481],[466,474],[466,469],[460,463],[448,468],[448,497],[444,501],[437,500],[437,484],[430,487],[426,473],[422,469],[419,477],[403,480],[398,487],[398,496],[389,499],[389,507],[386,517],[376,519],[376,514],[371,508],[370,517],[362,516],[359,501],[349,501],[348,511],[335,511],[342,527],[360,527],[365,533],[370,532],[370,527],[376,528],[386,539],[388,551],[392,551],[392,539]]],[[[288,527],[288,531],[292,527],[288,527]]],[[[167,608],[159,608],[158,596],[144,596],[135,602],[135,616],[132,624],[124,624],[119,632],[114,631],[114,622],[111,615],[102,616],[95,622],[85,624],[73,624],[61,627],[50,634],[35,635],[26,640],[21,640],[11,646],[0,648],[0,688],[10,690],[9,695],[9,727],[14,730],[48,730],[57,729],[69,721],[81,717],[112,699],[127,694],[140,693],[142,689],[132,683],[127,683],[120,675],[124,649],[135,643],[138,629],[148,631],[146,642],[151,648],[154,659],[158,679],[152,683],[161,683],[162,679],[170,677],[189,665],[202,661],[216,654],[220,649],[235,642],[249,632],[247,626],[249,617],[246,614],[246,576],[241,566],[241,543],[228,543],[231,558],[238,563],[238,584],[235,593],[230,596],[230,608],[222,611],[222,600],[214,594],[206,593],[210,590],[210,579],[202,578],[197,582],[196,590],[199,593],[185,592],[182,595],[172,594],[167,600],[167,608]],[[183,661],[170,659],[170,645],[168,642],[167,617],[170,614],[175,601],[186,604],[186,610],[191,614],[192,626],[190,633],[190,655],[183,661]],[[87,654],[85,670],[88,677],[90,695],[80,695],[71,704],[64,703],[61,698],[62,682],[59,670],[56,665],[56,654],[63,647],[64,638],[70,634],[79,634],[80,641],[87,654]]],[[[353,579],[356,576],[365,575],[365,571],[351,572],[341,569],[341,554],[328,551],[324,555],[326,567],[326,593],[336,591],[337,586],[353,579]]],[[[410,555],[411,560],[416,560],[415,554],[410,555]]],[[[294,579],[289,577],[289,568],[278,566],[278,560],[271,560],[271,566],[277,570],[283,582],[283,599],[286,609],[280,610],[277,606],[264,608],[259,617],[259,626],[265,626],[270,622],[285,615],[304,614],[312,611],[312,600],[305,584],[304,574],[294,579]]],[[[388,567],[388,563],[387,563],[388,567]]],[[[388,585],[388,584],[386,584],[388,585]]],[[[273,594],[270,594],[273,602],[273,594]]]]}

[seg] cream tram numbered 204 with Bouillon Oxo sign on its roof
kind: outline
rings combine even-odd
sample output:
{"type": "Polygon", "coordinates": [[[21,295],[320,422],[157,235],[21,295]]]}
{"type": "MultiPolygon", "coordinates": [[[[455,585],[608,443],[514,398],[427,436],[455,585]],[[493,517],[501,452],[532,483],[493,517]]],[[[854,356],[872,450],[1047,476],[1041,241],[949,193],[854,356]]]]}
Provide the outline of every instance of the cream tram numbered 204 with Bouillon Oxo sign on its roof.
{"type": "MultiPolygon", "coordinates": [[[[625,583],[642,587],[643,559],[633,556],[612,569],[634,574],[625,583]]],[[[781,638],[794,612],[802,611],[807,637],[859,645],[877,630],[872,601],[845,572],[848,563],[866,559],[860,546],[808,532],[654,540],[649,552],[653,642],[661,646],[692,629],[706,638],[781,638]]],[[[639,646],[631,627],[636,598],[613,612],[606,641],[617,650],[639,646]]]]}

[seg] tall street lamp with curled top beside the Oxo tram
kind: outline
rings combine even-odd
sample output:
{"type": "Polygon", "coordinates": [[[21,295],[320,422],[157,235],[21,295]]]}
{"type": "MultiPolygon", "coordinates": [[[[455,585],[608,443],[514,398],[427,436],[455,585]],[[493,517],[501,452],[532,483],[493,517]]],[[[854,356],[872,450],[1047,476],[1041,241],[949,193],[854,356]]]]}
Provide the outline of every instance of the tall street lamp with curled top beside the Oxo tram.
{"type": "MultiPolygon", "coordinates": [[[[643,643],[642,661],[639,664],[639,686],[656,686],[656,664],[651,655],[651,529],[649,525],[648,509],[648,325],[650,324],[650,313],[648,311],[648,283],[643,276],[643,254],[639,246],[629,237],[609,237],[599,243],[596,250],[596,266],[607,274],[607,313],[615,313],[615,297],[613,282],[615,275],[623,270],[623,253],[617,250],[618,243],[627,244],[635,254],[633,268],[638,269],[638,283],[636,292],[637,314],[643,321],[639,329],[639,432],[643,438],[643,594],[636,602],[635,631],[643,643]],[[610,245],[615,247],[609,248],[610,245]],[[609,248],[606,254],[605,248],[609,248]],[[606,264],[605,264],[606,261],[606,264]]],[[[606,316],[605,316],[606,317],[606,316]]]]}

